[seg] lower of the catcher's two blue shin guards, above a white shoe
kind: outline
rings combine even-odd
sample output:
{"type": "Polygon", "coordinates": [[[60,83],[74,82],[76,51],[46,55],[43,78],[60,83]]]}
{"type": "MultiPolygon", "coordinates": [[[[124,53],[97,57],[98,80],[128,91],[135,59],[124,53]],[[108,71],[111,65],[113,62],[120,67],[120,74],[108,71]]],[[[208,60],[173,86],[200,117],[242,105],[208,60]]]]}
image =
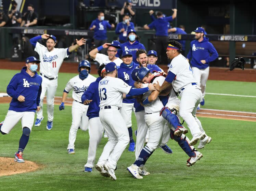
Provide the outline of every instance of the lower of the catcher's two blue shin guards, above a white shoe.
{"type": "Polygon", "coordinates": [[[187,153],[189,157],[196,156],[193,150],[194,147],[189,145],[190,140],[187,136],[185,136],[184,134],[182,134],[181,136],[175,136],[174,131],[171,130],[170,137],[171,139],[174,139],[176,142],[178,142],[180,148],[182,148],[182,150],[184,150],[184,152],[187,153]]]}

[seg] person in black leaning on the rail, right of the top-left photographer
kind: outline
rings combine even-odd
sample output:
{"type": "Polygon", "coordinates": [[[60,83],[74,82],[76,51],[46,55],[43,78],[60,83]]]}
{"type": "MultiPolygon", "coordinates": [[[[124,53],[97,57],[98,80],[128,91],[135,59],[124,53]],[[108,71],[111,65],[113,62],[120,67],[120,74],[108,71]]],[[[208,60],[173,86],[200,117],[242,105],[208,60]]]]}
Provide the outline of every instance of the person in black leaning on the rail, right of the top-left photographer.
{"type": "Polygon", "coordinates": [[[21,27],[31,27],[37,25],[37,14],[34,12],[34,6],[28,5],[27,12],[22,17],[21,27]]]}

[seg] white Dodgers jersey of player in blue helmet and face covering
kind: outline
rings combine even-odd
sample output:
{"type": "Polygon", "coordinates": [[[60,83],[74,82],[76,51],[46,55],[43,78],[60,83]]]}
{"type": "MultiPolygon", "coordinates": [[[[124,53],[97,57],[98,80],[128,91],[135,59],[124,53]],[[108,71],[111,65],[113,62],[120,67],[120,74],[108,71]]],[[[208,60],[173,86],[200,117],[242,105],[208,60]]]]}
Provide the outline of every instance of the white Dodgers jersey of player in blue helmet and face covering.
{"type": "Polygon", "coordinates": [[[73,99],[78,102],[81,102],[82,94],[88,89],[89,85],[92,82],[95,82],[95,80],[96,78],[90,74],[84,80],[81,80],[79,78],[79,75],[77,75],[68,81],[65,87],[65,90],[69,92],[73,89],[73,93],[72,93],[73,99]]]}

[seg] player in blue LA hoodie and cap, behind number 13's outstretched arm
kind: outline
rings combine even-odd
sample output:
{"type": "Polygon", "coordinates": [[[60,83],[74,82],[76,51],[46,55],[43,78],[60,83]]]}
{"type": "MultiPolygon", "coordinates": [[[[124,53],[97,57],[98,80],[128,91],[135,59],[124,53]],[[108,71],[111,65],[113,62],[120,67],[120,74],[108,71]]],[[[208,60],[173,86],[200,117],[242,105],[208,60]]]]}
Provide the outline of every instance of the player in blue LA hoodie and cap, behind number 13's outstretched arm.
{"type": "MultiPolygon", "coordinates": [[[[132,53],[130,51],[124,51],[122,53],[122,60],[123,63],[121,63],[120,68],[117,69],[118,71],[118,78],[122,79],[126,84],[129,86],[134,87],[134,81],[131,77],[131,72],[133,69],[138,67],[139,65],[134,63],[132,60],[132,53]]],[[[121,115],[123,116],[126,126],[129,131],[129,137],[130,137],[130,146],[128,151],[135,151],[135,142],[133,140],[132,136],[132,128],[131,128],[131,113],[133,109],[133,104],[135,102],[135,99],[123,99],[122,109],[120,111],[121,115]]]]}

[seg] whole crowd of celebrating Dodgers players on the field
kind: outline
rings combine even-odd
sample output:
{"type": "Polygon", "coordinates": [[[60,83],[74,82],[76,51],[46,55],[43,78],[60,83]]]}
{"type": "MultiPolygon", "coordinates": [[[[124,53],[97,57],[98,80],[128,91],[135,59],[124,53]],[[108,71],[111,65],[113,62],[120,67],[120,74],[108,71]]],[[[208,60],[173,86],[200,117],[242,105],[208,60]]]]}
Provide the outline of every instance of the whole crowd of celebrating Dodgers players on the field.
{"type": "MultiPolygon", "coordinates": [[[[216,59],[218,54],[204,37],[202,28],[198,27],[195,32],[196,40],[191,42],[187,58],[181,55],[182,45],[179,42],[166,42],[164,51],[171,60],[167,73],[155,65],[157,54],[162,52],[146,52],[139,41],[135,42],[137,35],[133,29],[127,31],[127,42],[104,43],[91,50],[89,55],[100,63],[98,78],[90,75],[89,61],[82,60],[79,63],[79,74],[68,81],[59,109],[65,108],[66,97],[69,91],[73,90],[72,126],[67,149],[68,154],[74,154],[77,130],[89,130],[85,172],[92,172],[96,150],[104,130],[108,142],[95,168],[101,175],[114,180],[117,161],[128,144],[128,150],[135,151],[136,161],[127,170],[138,179],[143,178],[141,175],[150,174],[146,171],[145,163],[156,148],[162,148],[167,154],[172,153],[166,144],[170,138],[190,157],[187,166],[192,166],[203,157],[193,146],[199,142],[197,149],[202,149],[212,138],[206,135],[196,117],[197,106],[204,102],[204,99],[199,85],[200,77],[193,74],[193,68],[202,73],[205,70],[209,72],[209,62],[216,59]],[[126,46],[126,43],[133,47],[126,46]],[[107,55],[99,53],[103,49],[106,49],[107,55]],[[190,58],[192,68],[188,62],[190,58]],[[131,128],[132,111],[135,112],[137,120],[136,143],[131,128]],[[185,135],[188,129],[182,126],[179,116],[188,124],[192,134],[191,140],[185,135]]],[[[22,120],[23,134],[14,159],[20,163],[24,162],[23,150],[27,145],[33,126],[31,120],[34,120],[36,111],[39,113],[35,126],[40,126],[43,120],[42,101],[46,91],[47,129],[53,128],[53,99],[57,74],[63,59],[75,48],[85,44],[85,40],[80,39],[76,45],[69,48],[54,48],[56,38],[48,34],[33,38],[30,42],[38,52],[40,60],[27,58],[26,67],[11,80],[7,93],[12,97],[12,102],[4,122],[0,123],[0,132],[8,134],[18,120],[22,120]],[[46,46],[37,42],[41,38],[47,39],[46,46]],[[40,76],[36,72],[38,63],[41,64],[40,76]]]]}

